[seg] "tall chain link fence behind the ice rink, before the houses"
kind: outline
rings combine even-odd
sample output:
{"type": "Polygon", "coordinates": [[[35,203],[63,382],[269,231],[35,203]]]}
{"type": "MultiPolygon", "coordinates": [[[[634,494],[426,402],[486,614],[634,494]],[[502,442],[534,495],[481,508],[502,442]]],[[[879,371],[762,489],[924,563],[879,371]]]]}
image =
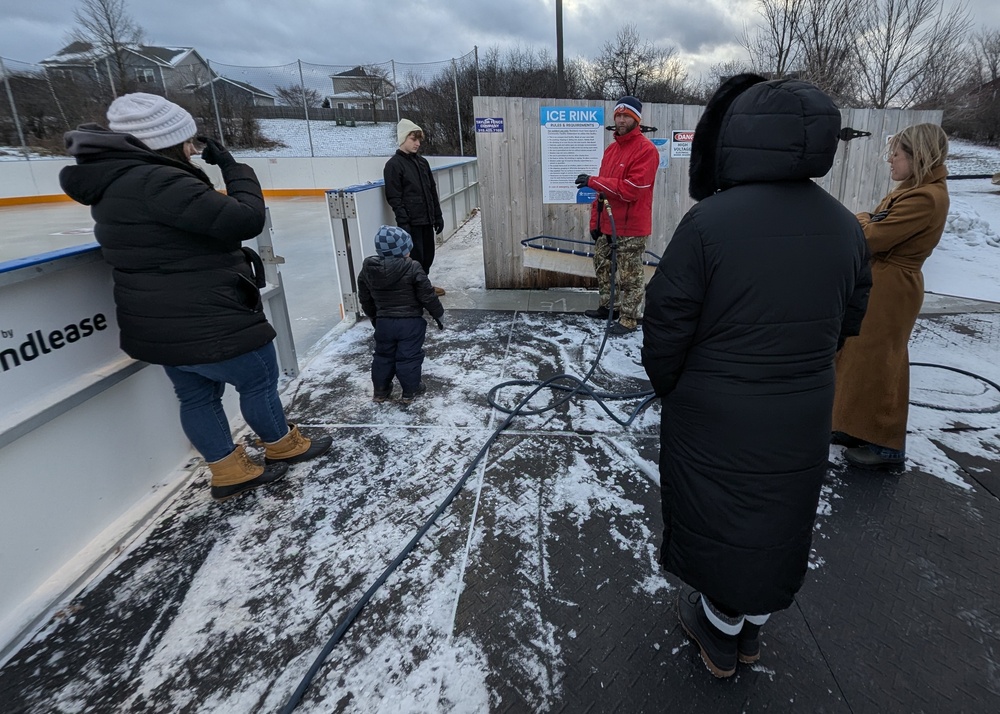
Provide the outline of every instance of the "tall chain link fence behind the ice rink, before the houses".
{"type": "Polygon", "coordinates": [[[0,58],[0,80],[0,160],[63,155],[64,132],[106,125],[108,104],[136,91],[184,106],[201,131],[244,156],[385,156],[396,149],[396,123],[404,117],[424,130],[424,153],[475,154],[475,48],[419,64],[246,67],[202,62],[194,53],[177,66],[139,53],[124,65],[0,58]]]}

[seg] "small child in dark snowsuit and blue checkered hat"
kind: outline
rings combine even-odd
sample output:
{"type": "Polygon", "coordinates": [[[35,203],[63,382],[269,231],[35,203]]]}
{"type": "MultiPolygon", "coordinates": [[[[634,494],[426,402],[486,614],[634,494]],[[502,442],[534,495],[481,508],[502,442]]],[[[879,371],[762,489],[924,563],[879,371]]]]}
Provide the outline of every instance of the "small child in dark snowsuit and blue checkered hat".
{"type": "Polygon", "coordinates": [[[442,329],[444,308],[434,294],[420,263],[412,260],[413,239],[397,226],[382,226],[375,234],[378,255],[365,258],[358,277],[358,297],[375,327],[372,385],[375,401],[384,402],[392,393],[392,379],[403,388],[408,404],[425,387],[420,381],[424,364],[424,309],[442,329]]]}

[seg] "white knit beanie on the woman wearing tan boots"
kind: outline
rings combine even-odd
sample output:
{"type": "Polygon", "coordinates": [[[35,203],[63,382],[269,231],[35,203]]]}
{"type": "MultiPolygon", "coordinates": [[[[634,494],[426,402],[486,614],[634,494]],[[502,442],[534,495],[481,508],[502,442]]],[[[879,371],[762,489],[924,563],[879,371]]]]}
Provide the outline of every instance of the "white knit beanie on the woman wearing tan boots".
{"type": "Polygon", "coordinates": [[[153,151],[183,144],[198,133],[194,117],[155,94],[124,94],[108,107],[108,128],[131,134],[153,151]]]}

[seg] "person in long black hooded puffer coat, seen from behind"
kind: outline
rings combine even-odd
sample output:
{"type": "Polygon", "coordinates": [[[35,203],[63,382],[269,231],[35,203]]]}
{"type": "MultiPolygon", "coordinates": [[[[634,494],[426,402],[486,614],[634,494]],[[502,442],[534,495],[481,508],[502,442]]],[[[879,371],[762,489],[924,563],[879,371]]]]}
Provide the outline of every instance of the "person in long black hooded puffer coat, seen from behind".
{"type": "Polygon", "coordinates": [[[805,578],[829,456],[834,355],[871,287],[857,219],[810,179],[840,112],[815,86],[738,75],[699,121],[690,193],[646,288],[642,363],[661,398],[663,566],[718,677],[805,578]]]}

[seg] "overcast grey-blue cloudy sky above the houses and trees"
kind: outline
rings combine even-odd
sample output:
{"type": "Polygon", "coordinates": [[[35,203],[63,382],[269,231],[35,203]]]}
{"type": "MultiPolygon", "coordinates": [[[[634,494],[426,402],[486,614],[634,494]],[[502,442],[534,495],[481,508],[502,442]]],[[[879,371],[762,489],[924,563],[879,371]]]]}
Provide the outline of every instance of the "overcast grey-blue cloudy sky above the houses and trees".
{"type": "MultiPolygon", "coordinates": [[[[858,0],[863,2],[864,0],[858,0]]],[[[946,0],[950,6],[958,0],[946,0]]],[[[565,58],[596,57],[624,24],[674,46],[692,78],[743,58],[756,0],[563,0],[565,58]]],[[[975,26],[1000,29],[1000,1],[968,0],[975,26]]],[[[0,57],[38,62],[63,47],[78,0],[0,0],[0,57]]],[[[549,49],[555,0],[131,0],[150,44],[194,47],[222,64],[423,63],[478,46],[549,49]]]]}

